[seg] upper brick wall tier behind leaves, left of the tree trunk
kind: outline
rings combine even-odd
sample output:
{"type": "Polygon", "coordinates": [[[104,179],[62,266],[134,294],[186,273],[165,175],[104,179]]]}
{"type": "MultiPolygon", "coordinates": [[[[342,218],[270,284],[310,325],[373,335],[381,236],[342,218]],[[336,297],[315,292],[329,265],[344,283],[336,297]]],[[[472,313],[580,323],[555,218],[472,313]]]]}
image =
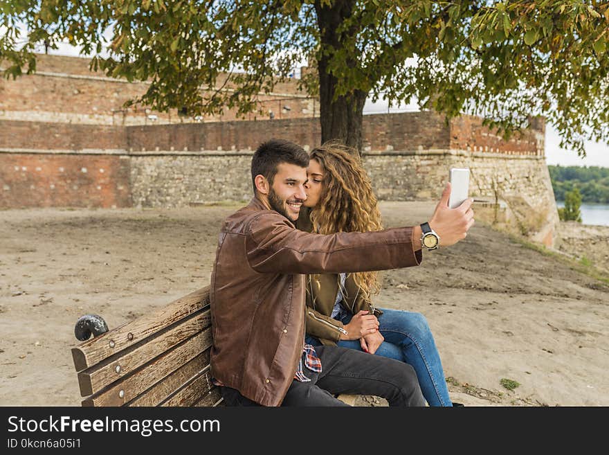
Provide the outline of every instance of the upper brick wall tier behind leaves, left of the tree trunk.
{"type": "MultiPolygon", "coordinates": [[[[0,78],[0,120],[85,123],[101,125],[146,125],[194,122],[179,116],[176,109],[161,113],[143,106],[123,107],[147,91],[145,82],[108,78],[101,71],[89,71],[89,59],[57,55],[37,55],[37,71],[16,80],[0,78]],[[156,120],[148,118],[154,114],[156,120]]],[[[0,69],[3,64],[0,62],[0,69]]],[[[219,79],[219,84],[223,78],[219,79]]],[[[261,94],[260,111],[245,120],[300,118],[319,115],[316,100],[298,90],[297,80],[275,86],[273,93],[261,94]]],[[[204,116],[203,121],[233,121],[236,111],[204,116]]]]}

